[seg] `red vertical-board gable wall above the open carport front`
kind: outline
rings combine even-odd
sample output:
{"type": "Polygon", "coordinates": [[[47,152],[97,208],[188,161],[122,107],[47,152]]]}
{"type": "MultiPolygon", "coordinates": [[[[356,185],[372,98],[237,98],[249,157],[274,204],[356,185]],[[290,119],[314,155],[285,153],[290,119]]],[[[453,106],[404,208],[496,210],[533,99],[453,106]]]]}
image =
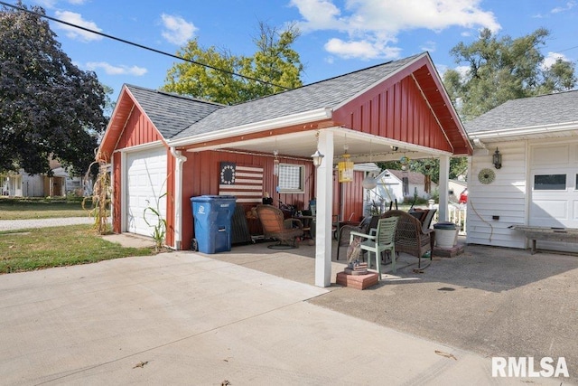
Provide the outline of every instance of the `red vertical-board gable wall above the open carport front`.
{"type": "Polygon", "coordinates": [[[333,119],[363,133],[452,152],[424,96],[408,76],[369,90],[337,109],[333,119]]]}

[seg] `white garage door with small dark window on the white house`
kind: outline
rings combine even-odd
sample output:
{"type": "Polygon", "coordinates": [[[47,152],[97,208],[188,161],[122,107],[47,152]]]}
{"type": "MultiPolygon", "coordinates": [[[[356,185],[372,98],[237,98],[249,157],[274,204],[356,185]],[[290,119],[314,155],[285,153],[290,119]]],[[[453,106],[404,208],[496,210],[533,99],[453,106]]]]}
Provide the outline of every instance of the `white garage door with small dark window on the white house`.
{"type": "Polygon", "coordinates": [[[578,228],[578,144],[531,148],[529,224],[578,228]]]}

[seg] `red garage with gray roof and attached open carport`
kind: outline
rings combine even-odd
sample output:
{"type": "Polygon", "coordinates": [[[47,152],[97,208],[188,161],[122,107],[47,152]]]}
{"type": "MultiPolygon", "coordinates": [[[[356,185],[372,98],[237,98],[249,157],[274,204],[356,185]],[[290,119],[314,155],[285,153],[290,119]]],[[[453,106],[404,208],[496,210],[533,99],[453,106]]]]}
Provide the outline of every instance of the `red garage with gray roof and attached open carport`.
{"type": "Polygon", "coordinates": [[[346,149],[356,164],[392,161],[393,147],[443,165],[471,155],[427,52],[234,106],[125,85],[97,158],[112,164],[113,230],[150,236],[143,213],[154,205],[173,249],[195,237],[191,197],[232,194],[246,209],[265,193],[299,209],[316,198],[315,284],[324,287],[332,215],[363,212],[365,172],[340,184],[334,165],[346,149]]]}

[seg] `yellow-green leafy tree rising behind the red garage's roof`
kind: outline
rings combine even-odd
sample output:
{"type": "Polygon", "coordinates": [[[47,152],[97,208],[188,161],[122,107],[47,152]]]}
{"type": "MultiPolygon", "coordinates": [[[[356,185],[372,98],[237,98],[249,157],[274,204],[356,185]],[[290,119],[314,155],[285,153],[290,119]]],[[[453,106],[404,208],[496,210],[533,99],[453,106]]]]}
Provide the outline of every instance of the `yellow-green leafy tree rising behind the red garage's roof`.
{"type": "Polygon", "coordinates": [[[300,79],[303,64],[291,47],[298,36],[294,26],[279,32],[261,23],[259,35],[254,39],[257,51],[251,57],[236,56],[215,47],[203,49],[195,38],[177,52],[189,61],[172,66],[163,90],[233,105],[294,89],[303,84],[300,79]]]}

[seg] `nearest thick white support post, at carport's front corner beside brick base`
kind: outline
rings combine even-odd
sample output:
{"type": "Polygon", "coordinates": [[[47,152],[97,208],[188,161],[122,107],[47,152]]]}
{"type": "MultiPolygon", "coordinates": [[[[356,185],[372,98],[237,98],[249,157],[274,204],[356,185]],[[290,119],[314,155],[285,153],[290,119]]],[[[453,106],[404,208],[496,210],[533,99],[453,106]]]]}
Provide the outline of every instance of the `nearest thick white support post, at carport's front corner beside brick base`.
{"type": "Polygon", "coordinates": [[[333,202],[333,132],[321,130],[317,148],[322,165],[317,168],[315,216],[315,286],[331,286],[331,212],[333,202]]]}

